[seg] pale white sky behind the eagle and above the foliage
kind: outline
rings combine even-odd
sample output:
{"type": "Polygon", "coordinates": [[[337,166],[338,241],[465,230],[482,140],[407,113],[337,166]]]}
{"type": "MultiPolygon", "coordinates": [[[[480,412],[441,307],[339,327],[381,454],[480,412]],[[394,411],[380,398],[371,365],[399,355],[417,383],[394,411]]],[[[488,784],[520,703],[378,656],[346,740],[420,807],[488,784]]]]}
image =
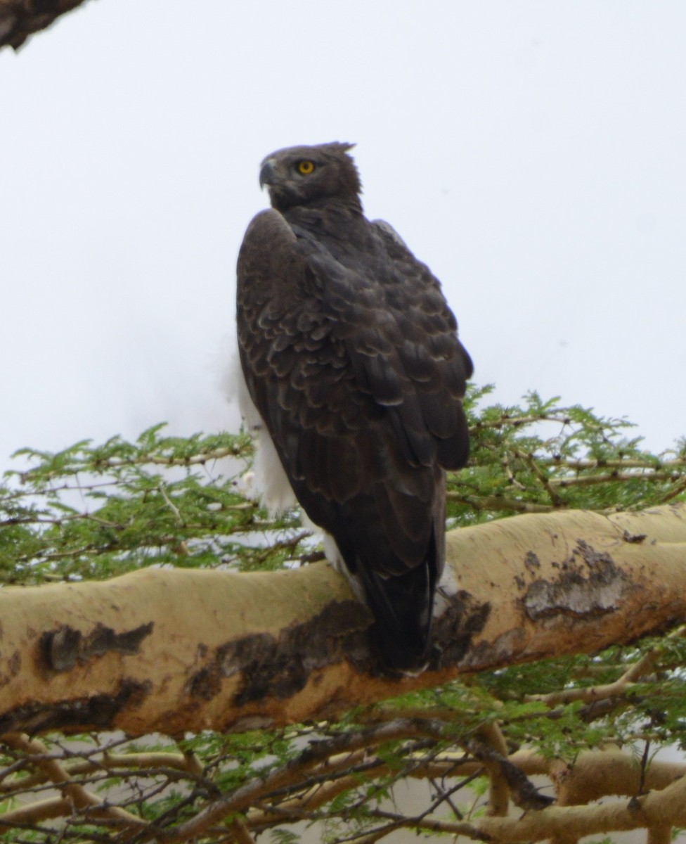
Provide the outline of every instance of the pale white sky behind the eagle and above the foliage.
{"type": "Polygon", "coordinates": [[[476,380],[686,434],[683,0],[99,0],[0,52],[0,468],[235,430],[262,157],[348,140],[476,380]]]}

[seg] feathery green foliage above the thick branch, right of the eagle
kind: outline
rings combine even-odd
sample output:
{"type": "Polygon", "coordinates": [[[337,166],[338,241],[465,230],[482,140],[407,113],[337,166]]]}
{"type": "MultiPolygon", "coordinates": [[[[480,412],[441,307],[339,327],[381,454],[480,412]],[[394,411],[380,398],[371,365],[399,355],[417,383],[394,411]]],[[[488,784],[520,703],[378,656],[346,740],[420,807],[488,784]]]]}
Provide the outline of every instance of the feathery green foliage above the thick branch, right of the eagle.
{"type": "Polygon", "coordinates": [[[661,455],[629,438],[633,425],[579,405],[529,393],[521,407],[483,407],[491,387],[474,387],[465,407],[472,435],[467,471],[448,482],[449,517],[484,522],[516,512],[644,508],[683,500],[683,444],[661,455]]]}

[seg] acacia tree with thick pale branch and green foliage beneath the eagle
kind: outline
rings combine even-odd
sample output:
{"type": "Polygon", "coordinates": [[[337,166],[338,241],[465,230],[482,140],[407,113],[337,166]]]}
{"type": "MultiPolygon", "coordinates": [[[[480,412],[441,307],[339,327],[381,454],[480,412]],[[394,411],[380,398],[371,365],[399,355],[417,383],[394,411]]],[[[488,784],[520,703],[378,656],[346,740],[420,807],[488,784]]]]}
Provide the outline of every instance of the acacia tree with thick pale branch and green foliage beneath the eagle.
{"type": "Polygon", "coordinates": [[[623,420],[488,392],[467,402],[456,582],[418,678],[381,674],[298,513],[242,495],[246,436],[19,452],[0,490],[3,839],[686,826],[686,766],[653,758],[686,724],[683,445],[651,455],[623,420]]]}

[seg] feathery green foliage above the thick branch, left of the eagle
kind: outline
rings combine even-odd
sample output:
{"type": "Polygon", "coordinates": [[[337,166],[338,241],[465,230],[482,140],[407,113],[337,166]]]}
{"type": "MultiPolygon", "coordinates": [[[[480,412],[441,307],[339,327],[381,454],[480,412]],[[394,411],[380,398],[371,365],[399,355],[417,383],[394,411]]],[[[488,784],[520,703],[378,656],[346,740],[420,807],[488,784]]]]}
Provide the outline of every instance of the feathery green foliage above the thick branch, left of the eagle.
{"type": "Polygon", "coordinates": [[[300,550],[297,517],[269,521],[240,494],[245,435],[112,437],[52,454],[0,487],[0,580],[106,578],[144,565],[275,568],[300,550]]]}

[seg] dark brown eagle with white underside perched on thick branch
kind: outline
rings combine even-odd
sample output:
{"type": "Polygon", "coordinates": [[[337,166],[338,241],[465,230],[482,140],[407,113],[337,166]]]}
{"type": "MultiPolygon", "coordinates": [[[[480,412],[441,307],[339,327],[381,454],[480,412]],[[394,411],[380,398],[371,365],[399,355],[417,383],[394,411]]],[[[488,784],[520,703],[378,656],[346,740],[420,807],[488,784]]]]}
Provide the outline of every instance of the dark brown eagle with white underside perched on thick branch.
{"type": "Polygon", "coordinates": [[[412,674],[432,651],[445,476],[467,462],[473,365],[438,279],[363,214],[353,146],[262,161],[272,207],[237,267],[239,398],[263,502],[300,503],[374,617],[382,668],[412,674]]]}

